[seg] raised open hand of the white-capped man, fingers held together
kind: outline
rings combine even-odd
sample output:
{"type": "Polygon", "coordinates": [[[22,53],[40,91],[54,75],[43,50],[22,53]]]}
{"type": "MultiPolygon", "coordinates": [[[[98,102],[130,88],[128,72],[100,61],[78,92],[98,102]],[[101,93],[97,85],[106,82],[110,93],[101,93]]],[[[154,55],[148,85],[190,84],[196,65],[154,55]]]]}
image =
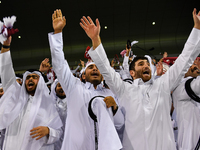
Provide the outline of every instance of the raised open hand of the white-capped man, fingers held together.
{"type": "Polygon", "coordinates": [[[54,34],[62,32],[63,28],[66,25],[65,16],[62,16],[62,12],[60,9],[56,9],[52,14],[52,22],[54,34]]]}

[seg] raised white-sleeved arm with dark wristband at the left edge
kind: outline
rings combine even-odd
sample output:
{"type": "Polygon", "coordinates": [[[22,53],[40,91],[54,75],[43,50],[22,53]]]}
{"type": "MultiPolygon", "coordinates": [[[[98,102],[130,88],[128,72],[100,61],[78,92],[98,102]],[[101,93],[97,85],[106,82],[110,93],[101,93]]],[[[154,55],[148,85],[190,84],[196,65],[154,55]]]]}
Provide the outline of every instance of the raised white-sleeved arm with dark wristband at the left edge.
{"type": "Polygon", "coordinates": [[[0,54],[0,72],[1,72],[1,80],[4,91],[6,91],[10,85],[16,82],[15,72],[12,65],[12,59],[10,54],[10,44],[12,37],[8,37],[8,39],[3,43],[0,54]]]}

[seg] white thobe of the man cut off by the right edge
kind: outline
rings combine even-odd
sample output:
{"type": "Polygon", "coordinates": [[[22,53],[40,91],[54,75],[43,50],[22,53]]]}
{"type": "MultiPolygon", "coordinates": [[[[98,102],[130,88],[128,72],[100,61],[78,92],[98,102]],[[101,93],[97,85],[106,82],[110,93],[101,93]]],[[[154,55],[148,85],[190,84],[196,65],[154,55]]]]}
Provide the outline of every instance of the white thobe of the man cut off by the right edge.
{"type": "MultiPolygon", "coordinates": [[[[190,78],[184,79],[172,94],[177,114],[179,150],[194,150],[200,137],[200,104],[192,100],[185,90],[185,82],[190,78]]],[[[200,76],[190,85],[194,93],[200,96],[200,76]]]]}

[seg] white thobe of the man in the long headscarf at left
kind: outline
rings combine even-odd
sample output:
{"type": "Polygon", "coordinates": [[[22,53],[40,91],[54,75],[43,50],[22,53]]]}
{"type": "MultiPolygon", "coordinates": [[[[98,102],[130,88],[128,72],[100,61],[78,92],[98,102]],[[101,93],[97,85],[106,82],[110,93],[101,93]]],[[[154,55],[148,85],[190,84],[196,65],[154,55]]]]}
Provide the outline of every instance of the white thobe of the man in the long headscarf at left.
{"type": "MultiPolygon", "coordinates": [[[[10,93],[7,94],[7,90],[9,90],[9,88],[13,89],[13,94],[15,93],[14,90],[17,90],[17,91],[19,91],[19,93],[18,93],[19,95],[21,93],[24,93],[24,95],[21,94],[21,96],[22,97],[26,96],[27,95],[26,92],[21,92],[21,91],[25,90],[25,85],[23,84],[23,86],[20,86],[16,82],[14,70],[12,67],[10,51],[0,54],[0,62],[1,62],[0,69],[1,69],[1,73],[2,73],[2,83],[6,83],[3,85],[4,91],[5,91],[4,96],[8,96],[8,98],[12,97],[11,95],[8,95],[10,93]]],[[[44,81],[42,82],[42,80],[43,79],[41,79],[41,80],[39,79],[38,86],[40,83],[43,84],[43,86],[46,86],[44,81]]],[[[23,83],[25,83],[25,79],[24,79],[23,83]]],[[[37,86],[37,88],[38,88],[38,86],[37,86]]],[[[44,89],[45,92],[43,94],[48,95],[48,90],[46,88],[44,89]],[[47,91],[47,93],[46,93],[46,91],[47,91]]],[[[39,91],[39,90],[36,89],[36,93],[37,93],[37,91],[39,91]]],[[[36,93],[35,93],[34,97],[37,96],[36,93]]],[[[39,91],[38,93],[41,93],[41,92],[39,91]]],[[[39,108],[36,108],[37,102],[33,102],[33,100],[32,100],[33,97],[30,95],[27,98],[27,102],[25,102],[24,105],[22,104],[22,103],[24,103],[23,101],[19,101],[19,99],[16,100],[17,98],[19,98],[18,95],[14,95],[13,97],[15,97],[15,98],[12,100],[9,100],[9,102],[3,101],[2,99],[1,99],[2,101],[0,101],[0,103],[7,108],[7,110],[5,110],[5,111],[2,111],[5,108],[1,108],[2,112],[0,112],[0,116],[3,119],[1,119],[2,122],[0,122],[1,123],[0,126],[5,126],[6,121],[4,119],[9,121],[10,118],[8,118],[7,115],[10,115],[9,114],[10,112],[12,113],[12,109],[13,110],[19,109],[19,107],[21,109],[20,113],[16,114],[17,115],[16,119],[13,122],[7,123],[7,125],[6,125],[7,128],[6,128],[6,133],[5,133],[3,150],[13,150],[13,149],[15,149],[15,150],[26,150],[26,149],[53,150],[54,145],[52,143],[57,141],[62,134],[62,131],[60,129],[62,123],[58,116],[58,113],[51,112],[54,110],[56,111],[56,109],[54,109],[53,103],[51,103],[51,100],[49,99],[50,102],[47,105],[46,104],[47,100],[42,99],[39,108]],[[44,105],[46,106],[46,109],[45,109],[44,105]],[[30,115],[35,113],[35,112],[33,112],[33,110],[36,110],[36,109],[38,109],[38,113],[36,114],[37,116],[36,116],[35,120],[32,120],[32,118],[30,118],[30,115]],[[51,110],[49,110],[49,109],[51,109],[51,110]],[[44,116],[47,113],[50,115],[49,117],[51,117],[51,118],[44,116]],[[54,126],[54,123],[52,122],[52,120],[57,121],[56,122],[57,127],[54,129],[51,128],[51,126],[54,126]],[[38,142],[36,142],[35,139],[32,139],[30,136],[30,129],[29,129],[30,122],[33,122],[34,127],[47,126],[47,124],[48,124],[49,125],[48,126],[48,128],[49,128],[48,138],[47,138],[47,136],[45,136],[45,137],[39,139],[38,142]]],[[[33,127],[31,127],[31,129],[32,128],[33,127]]]]}

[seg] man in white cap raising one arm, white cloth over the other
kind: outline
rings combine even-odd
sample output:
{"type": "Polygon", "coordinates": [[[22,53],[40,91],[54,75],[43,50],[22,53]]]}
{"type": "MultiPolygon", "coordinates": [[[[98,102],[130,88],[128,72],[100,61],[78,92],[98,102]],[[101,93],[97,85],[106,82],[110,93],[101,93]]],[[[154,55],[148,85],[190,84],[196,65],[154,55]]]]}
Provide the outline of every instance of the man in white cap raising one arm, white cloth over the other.
{"type": "MultiPolygon", "coordinates": [[[[54,11],[52,20],[54,33],[49,33],[52,65],[67,98],[67,119],[61,149],[121,149],[121,142],[114,127],[112,116],[110,116],[112,114],[108,113],[109,110],[104,103],[109,99],[106,96],[113,96],[112,92],[102,86],[102,75],[93,62],[85,67],[85,84],[73,76],[63,53],[62,29],[66,20],[62,17],[61,10],[54,11]],[[92,105],[98,120],[96,123],[89,116],[88,107],[90,100],[99,95],[106,98],[104,101],[96,100],[92,105]],[[98,139],[98,141],[95,141],[95,139],[98,139]]],[[[114,100],[112,103],[107,103],[107,107],[110,106],[116,109],[114,100]]]]}

